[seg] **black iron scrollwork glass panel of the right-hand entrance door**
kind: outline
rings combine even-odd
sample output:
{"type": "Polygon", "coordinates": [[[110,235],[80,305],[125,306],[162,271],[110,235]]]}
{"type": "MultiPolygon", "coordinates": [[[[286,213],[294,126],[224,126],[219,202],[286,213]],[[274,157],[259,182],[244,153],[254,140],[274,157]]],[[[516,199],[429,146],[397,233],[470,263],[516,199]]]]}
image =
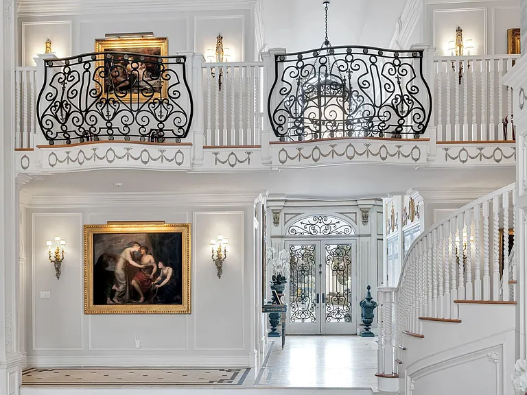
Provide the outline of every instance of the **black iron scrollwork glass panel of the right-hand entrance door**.
{"type": "Polygon", "coordinates": [[[351,322],[351,244],[325,246],[326,322],[351,322]]]}

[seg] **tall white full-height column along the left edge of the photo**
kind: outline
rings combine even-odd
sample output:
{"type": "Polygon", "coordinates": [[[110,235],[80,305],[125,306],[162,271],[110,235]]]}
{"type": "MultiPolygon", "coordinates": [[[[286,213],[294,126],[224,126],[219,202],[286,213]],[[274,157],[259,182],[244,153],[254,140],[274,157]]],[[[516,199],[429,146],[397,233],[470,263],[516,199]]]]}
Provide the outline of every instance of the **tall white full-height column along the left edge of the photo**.
{"type": "Polygon", "coordinates": [[[19,204],[14,178],[14,61],[16,1],[4,0],[0,60],[0,394],[19,395],[23,356],[19,315],[19,204]]]}

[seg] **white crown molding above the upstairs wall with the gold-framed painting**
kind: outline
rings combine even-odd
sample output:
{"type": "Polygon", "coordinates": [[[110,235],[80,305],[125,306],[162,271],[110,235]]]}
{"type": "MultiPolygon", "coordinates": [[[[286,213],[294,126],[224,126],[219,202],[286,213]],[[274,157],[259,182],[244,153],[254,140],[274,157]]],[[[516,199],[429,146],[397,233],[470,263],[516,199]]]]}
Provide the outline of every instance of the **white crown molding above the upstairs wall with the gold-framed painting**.
{"type": "Polygon", "coordinates": [[[254,0],[21,0],[19,16],[251,9],[254,0]]]}

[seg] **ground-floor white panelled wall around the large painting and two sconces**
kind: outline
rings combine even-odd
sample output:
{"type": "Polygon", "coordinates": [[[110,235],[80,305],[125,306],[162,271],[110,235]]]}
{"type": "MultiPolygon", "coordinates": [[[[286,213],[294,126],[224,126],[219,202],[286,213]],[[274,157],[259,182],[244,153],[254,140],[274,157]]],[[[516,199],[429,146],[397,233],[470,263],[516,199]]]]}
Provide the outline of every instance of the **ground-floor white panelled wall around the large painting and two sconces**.
{"type": "Polygon", "coordinates": [[[127,202],[30,207],[26,226],[29,366],[122,366],[124,357],[128,366],[254,366],[249,297],[254,290],[252,202],[220,208],[127,202]],[[84,315],[82,225],[156,220],[191,223],[191,314],[84,315]],[[230,246],[218,279],[209,240],[220,233],[229,237],[230,246]],[[60,280],[45,246],[55,235],[67,240],[60,280]],[[51,298],[40,299],[41,291],[50,291],[51,298]],[[136,339],[141,340],[140,348],[136,339]]]}

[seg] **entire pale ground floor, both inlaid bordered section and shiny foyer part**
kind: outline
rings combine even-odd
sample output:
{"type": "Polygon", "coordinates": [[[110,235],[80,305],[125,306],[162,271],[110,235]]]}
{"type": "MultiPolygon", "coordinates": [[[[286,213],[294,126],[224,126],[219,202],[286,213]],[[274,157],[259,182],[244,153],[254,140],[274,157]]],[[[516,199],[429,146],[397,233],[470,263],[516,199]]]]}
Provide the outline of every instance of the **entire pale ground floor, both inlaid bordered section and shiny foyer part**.
{"type": "Polygon", "coordinates": [[[129,385],[243,388],[373,389],[377,338],[288,335],[270,341],[256,376],[246,368],[29,368],[23,387],[126,387],[129,385]]]}

